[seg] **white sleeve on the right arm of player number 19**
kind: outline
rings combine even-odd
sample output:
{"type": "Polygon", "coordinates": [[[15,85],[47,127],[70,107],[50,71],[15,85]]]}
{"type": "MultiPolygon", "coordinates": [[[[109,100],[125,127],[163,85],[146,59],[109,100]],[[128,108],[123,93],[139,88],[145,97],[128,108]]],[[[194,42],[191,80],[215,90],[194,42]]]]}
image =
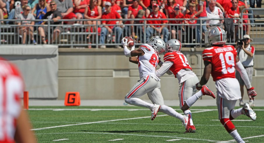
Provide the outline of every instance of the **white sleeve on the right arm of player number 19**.
{"type": "Polygon", "coordinates": [[[249,89],[251,88],[251,83],[249,81],[249,76],[248,74],[246,73],[246,70],[245,68],[243,67],[242,63],[240,61],[238,61],[235,65],[235,69],[239,72],[241,78],[243,79],[244,83],[245,83],[245,86],[246,86],[246,89],[249,89]]]}

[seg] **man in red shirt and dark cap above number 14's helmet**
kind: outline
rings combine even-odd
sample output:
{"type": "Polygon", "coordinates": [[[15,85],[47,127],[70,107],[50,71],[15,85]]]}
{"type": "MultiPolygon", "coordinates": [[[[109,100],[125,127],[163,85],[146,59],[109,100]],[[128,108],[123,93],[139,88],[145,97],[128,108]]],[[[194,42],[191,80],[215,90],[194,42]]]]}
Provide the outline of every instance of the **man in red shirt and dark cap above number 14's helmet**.
{"type": "MultiPolygon", "coordinates": [[[[170,15],[169,18],[179,18],[183,19],[184,15],[180,12],[180,5],[176,5],[174,7],[174,13],[173,15],[170,15]]],[[[183,23],[182,20],[169,20],[170,24],[181,24],[183,23]]],[[[172,39],[178,39],[179,41],[182,41],[182,31],[184,31],[183,27],[181,25],[175,25],[171,26],[171,37],[172,39]],[[178,36],[176,38],[176,32],[178,32],[178,36]]]]}

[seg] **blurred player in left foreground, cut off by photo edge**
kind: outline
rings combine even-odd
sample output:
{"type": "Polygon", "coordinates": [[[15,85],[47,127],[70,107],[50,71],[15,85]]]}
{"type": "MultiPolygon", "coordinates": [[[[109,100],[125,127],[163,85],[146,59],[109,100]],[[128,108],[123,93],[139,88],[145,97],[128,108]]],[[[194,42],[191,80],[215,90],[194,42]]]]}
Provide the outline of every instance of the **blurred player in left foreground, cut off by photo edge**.
{"type": "Polygon", "coordinates": [[[0,142],[34,143],[31,125],[21,108],[24,83],[18,69],[0,57],[0,142]]]}

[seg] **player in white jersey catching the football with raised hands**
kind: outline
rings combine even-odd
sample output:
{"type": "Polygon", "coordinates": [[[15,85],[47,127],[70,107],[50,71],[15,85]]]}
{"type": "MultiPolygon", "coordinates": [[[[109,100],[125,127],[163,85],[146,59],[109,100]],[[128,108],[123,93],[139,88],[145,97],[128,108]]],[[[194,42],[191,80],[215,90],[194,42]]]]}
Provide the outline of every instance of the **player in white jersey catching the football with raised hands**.
{"type": "Polygon", "coordinates": [[[138,64],[140,80],[136,83],[125,96],[127,104],[149,108],[152,111],[151,120],[157,116],[157,112],[161,111],[167,115],[180,119],[185,125],[185,130],[190,128],[190,114],[181,115],[171,107],[164,105],[164,100],[160,92],[160,79],[156,76],[155,70],[159,62],[158,53],[165,50],[165,43],[160,38],[152,38],[147,40],[137,50],[134,46],[129,50],[127,48],[127,39],[122,39],[124,54],[130,57],[129,61],[138,64]],[[138,56],[136,58],[136,56],[138,56]],[[153,104],[145,102],[139,97],[146,94],[153,104]]]}

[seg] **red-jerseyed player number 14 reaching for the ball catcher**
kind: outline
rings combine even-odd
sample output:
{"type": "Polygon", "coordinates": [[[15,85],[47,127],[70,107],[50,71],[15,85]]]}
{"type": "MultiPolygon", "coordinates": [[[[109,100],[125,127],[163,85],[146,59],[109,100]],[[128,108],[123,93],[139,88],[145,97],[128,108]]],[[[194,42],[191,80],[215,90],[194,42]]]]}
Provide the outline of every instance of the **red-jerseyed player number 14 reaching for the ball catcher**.
{"type": "MultiPolygon", "coordinates": [[[[179,40],[171,39],[166,43],[164,63],[159,62],[160,68],[156,70],[158,77],[167,74],[174,74],[180,84],[179,99],[180,109],[184,114],[191,114],[190,107],[196,102],[202,95],[209,95],[216,98],[213,92],[207,87],[203,86],[202,90],[197,92],[195,84],[199,81],[198,77],[192,71],[187,58],[183,53],[180,53],[182,45],[179,40]],[[196,93],[197,92],[197,93],[196,93]],[[186,104],[185,104],[186,103],[186,104]]],[[[190,129],[186,132],[195,132],[195,126],[190,120],[190,129]]]]}

